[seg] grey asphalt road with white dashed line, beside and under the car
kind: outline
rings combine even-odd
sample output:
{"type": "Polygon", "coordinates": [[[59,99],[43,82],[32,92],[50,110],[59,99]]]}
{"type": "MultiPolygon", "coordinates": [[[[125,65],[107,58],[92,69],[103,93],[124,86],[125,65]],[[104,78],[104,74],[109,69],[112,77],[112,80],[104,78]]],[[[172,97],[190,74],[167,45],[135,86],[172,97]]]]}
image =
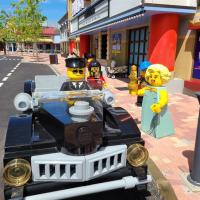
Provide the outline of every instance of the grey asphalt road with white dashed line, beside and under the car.
{"type": "MultiPolygon", "coordinates": [[[[12,114],[16,114],[16,110],[13,106],[13,99],[16,94],[23,91],[23,83],[25,80],[34,79],[38,74],[54,74],[54,72],[47,66],[42,64],[33,63],[21,63],[20,57],[4,57],[0,56],[0,150],[1,159],[3,158],[4,140],[6,134],[6,128],[8,124],[8,118],[12,114]]],[[[2,177],[2,162],[0,167],[0,177],[2,177]]],[[[0,179],[0,200],[3,200],[3,184],[0,179]]],[[[77,198],[79,200],[84,199],[131,199],[131,200],[157,200],[157,191],[155,187],[150,185],[152,196],[145,198],[138,196],[133,191],[114,191],[112,193],[106,193],[105,195],[97,194],[92,197],[77,198]],[[136,197],[137,196],[137,197],[136,197]]],[[[75,198],[76,199],[76,198],[75,198]]]]}

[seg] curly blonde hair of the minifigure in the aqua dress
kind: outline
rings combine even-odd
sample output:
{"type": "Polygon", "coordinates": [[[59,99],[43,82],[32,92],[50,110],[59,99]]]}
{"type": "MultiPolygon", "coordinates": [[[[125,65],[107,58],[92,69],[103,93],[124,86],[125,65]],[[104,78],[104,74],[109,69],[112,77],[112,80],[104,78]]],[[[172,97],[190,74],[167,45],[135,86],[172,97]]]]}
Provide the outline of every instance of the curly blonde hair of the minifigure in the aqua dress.
{"type": "Polygon", "coordinates": [[[150,65],[147,68],[147,71],[145,73],[146,81],[148,81],[149,76],[151,76],[151,74],[154,72],[158,72],[160,74],[163,84],[169,82],[169,80],[171,79],[171,72],[169,72],[167,67],[161,64],[154,64],[150,65]]]}

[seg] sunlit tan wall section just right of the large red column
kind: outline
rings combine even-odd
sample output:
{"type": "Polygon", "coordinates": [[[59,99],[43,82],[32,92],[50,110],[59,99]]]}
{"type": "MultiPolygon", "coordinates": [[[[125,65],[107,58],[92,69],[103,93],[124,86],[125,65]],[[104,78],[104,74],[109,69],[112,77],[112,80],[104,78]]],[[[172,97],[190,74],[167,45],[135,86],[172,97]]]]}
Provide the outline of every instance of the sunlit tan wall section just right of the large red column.
{"type": "Polygon", "coordinates": [[[195,47],[195,31],[188,29],[190,17],[181,17],[177,42],[174,76],[184,80],[191,79],[195,47]]]}

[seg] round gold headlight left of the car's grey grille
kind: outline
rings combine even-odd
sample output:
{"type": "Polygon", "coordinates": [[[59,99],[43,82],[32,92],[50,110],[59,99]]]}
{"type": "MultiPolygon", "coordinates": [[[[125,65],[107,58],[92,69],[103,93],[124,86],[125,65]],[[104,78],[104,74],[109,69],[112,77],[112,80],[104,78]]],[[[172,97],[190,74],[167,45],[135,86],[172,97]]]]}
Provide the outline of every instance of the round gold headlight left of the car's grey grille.
{"type": "Polygon", "coordinates": [[[27,160],[14,159],[8,162],[4,168],[4,182],[9,186],[22,186],[31,177],[31,165],[27,160]]]}

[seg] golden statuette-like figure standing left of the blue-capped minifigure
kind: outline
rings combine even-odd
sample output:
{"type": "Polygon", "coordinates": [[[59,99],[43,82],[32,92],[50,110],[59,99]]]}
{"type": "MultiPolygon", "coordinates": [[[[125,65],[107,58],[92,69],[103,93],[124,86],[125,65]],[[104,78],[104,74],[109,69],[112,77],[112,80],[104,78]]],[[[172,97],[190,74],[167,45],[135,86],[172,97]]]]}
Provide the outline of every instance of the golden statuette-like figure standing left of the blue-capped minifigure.
{"type": "Polygon", "coordinates": [[[138,90],[137,67],[133,65],[129,75],[130,82],[128,84],[129,94],[136,95],[138,90]]]}

